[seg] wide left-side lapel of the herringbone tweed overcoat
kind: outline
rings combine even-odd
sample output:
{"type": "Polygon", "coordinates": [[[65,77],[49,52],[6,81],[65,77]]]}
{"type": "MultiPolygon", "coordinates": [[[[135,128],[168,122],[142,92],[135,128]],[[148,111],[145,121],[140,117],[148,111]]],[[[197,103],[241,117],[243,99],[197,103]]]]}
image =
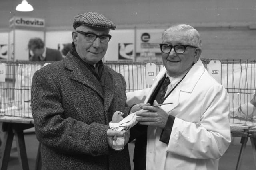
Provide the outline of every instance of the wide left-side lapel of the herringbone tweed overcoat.
{"type": "Polygon", "coordinates": [[[100,82],[79,59],[72,55],[67,55],[64,61],[70,79],[92,88],[104,100],[104,93],[100,82]]]}

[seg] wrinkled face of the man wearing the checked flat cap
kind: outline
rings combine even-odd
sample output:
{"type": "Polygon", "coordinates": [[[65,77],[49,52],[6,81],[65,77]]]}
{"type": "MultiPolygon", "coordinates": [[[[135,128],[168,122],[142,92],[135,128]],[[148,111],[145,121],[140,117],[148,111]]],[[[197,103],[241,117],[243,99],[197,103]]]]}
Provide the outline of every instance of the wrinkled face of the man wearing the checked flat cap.
{"type": "MultiPolygon", "coordinates": [[[[84,25],[77,27],[76,31],[94,33],[96,35],[108,35],[109,33],[109,29],[87,27],[84,25]]],[[[98,63],[106,54],[108,43],[101,43],[99,38],[96,38],[93,42],[87,41],[84,34],[77,33],[76,31],[72,33],[72,38],[78,55],[88,64],[98,63]]]]}

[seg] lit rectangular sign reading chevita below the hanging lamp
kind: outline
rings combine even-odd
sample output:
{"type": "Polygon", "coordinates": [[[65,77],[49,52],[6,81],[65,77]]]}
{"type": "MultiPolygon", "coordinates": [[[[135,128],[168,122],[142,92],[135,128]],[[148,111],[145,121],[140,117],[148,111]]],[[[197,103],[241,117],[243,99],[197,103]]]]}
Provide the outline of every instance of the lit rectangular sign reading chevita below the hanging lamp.
{"type": "Polygon", "coordinates": [[[10,27],[26,26],[26,27],[44,27],[45,21],[43,18],[17,17],[14,16],[9,20],[10,27]]]}

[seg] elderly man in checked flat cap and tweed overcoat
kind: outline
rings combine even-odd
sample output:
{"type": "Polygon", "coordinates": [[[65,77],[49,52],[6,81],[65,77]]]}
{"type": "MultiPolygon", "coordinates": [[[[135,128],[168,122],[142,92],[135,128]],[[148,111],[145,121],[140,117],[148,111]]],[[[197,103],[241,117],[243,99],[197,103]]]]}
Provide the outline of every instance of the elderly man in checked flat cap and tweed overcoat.
{"type": "Polygon", "coordinates": [[[108,123],[143,104],[126,105],[126,82],[102,62],[116,26],[102,14],[74,17],[72,47],[62,61],[38,70],[32,80],[32,115],[46,170],[130,170],[128,147],[112,149],[116,137],[108,123]]]}

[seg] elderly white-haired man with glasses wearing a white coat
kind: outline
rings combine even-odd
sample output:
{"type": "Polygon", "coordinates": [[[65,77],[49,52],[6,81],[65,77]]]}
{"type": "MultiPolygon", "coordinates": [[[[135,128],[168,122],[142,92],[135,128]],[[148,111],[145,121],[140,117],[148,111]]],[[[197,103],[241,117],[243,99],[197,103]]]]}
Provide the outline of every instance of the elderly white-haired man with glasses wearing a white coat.
{"type": "Polygon", "coordinates": [[[127,94],[130,103],[172,103],[136,114],[135,170],[218,170],[231,141],[229,97],[204,68],[200,47],[196,29],[172,25],[162,33],[164,68],[156,81],[127,94]]]}

